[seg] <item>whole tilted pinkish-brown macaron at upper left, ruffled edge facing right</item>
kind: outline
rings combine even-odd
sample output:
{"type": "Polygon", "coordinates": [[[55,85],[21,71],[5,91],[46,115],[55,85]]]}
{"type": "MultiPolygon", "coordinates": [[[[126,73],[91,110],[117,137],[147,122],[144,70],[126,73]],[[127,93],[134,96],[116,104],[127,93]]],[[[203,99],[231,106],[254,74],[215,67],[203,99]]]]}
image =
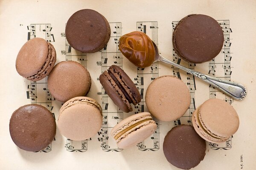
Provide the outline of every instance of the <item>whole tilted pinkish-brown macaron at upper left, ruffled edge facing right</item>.
{"type": "Polygon", "coordinates": [[[43,38],[28,40],[16,58],[16,70],[30,81],[45,78],[56,62],[56,52],[52,44],[43,38]]]}

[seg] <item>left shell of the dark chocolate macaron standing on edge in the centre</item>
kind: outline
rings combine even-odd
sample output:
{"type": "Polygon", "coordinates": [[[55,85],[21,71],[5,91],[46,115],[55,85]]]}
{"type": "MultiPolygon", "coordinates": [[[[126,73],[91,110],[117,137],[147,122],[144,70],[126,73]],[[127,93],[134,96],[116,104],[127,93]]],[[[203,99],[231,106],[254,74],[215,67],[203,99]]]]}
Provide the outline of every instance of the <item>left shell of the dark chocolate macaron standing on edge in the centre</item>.
{"type": "Polygon", "coordinates": [[[99,76],[99,81],[116,106],[118,106],[124,112],[132,111],[131,104],[129,104],[128,100],[125,98],[125,95],[118,88],[111,76],[108,75],[107,71],[103,72],[103,74],[99,76]]]}

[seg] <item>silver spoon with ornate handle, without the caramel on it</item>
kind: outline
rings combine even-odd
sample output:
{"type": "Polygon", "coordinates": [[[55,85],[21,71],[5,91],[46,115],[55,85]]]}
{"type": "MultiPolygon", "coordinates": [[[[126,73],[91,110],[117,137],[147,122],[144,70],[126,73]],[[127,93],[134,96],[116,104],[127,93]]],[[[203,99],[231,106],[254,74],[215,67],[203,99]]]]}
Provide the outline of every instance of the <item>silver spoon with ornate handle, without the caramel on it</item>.
{"type": "Polygon", "coordinates": [[[188,72],[189,74],[192,74],[192,75],[200,78],[201,80],[207,82],[208,84],[211,84],[212,86],[217,87],[222,92],[226,93],[227,95],[230,95],[230,97],[232,97],[236,100],[243,100],[245,98],[246,89],[243,85],[236,83],[236,82],[232,82],[232,81],[214,78],[209,75],[204,75],[203,73],[197,72],[192,69],[188,69],[188,68],[181,66],[175,62],[169,61],[160,55],[160,53],[158,52],[157,45],[154,42],[153,42],[153,44],[154,44],[154,49],[156,52],[155,61],[163,61],[164,63],[171,64],[172,66],[182,69],[185,72],[188,72]]]}

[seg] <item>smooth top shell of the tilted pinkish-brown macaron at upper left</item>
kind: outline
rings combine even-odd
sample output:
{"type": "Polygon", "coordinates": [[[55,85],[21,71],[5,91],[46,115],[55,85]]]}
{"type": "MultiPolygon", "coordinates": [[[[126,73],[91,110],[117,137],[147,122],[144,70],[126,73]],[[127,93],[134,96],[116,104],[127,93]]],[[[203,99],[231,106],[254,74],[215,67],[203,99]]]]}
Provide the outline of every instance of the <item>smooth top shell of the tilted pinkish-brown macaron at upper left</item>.
{"type": "Polygon", "coordinates": [[[35,75],[44,65],[48,56],[47,41],[43,38],[28,40],[16,58],[16,69],[22,77],[35,75]]]}

